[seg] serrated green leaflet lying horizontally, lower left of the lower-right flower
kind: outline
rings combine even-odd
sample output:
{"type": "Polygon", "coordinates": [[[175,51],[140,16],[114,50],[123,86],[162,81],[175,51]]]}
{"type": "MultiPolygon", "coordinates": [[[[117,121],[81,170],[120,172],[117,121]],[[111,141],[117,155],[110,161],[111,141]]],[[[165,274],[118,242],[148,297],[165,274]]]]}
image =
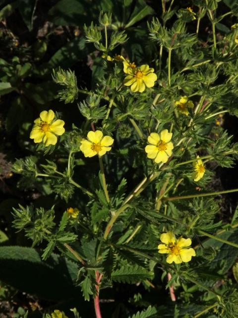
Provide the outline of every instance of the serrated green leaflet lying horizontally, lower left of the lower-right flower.
{"type": "Polygon", "coordinates": [[[125,265],[113,271],[111,278],[115,282],[137,283],[141,280],[151,278],[151,274],[141,266],[125,265]]]}

